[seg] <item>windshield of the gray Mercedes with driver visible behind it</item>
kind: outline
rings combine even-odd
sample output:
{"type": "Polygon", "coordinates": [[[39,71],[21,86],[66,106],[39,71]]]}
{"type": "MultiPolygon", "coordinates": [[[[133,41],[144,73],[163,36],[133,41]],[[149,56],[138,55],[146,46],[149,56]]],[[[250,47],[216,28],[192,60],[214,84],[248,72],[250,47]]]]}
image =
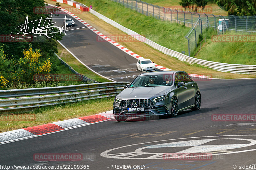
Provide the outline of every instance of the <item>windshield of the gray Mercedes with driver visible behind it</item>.
{"type": "Polygon", "coordinates": [[[142,75],[131,84],[131,88],[147,86],[171,86],[172,74],[142,75]]]}

